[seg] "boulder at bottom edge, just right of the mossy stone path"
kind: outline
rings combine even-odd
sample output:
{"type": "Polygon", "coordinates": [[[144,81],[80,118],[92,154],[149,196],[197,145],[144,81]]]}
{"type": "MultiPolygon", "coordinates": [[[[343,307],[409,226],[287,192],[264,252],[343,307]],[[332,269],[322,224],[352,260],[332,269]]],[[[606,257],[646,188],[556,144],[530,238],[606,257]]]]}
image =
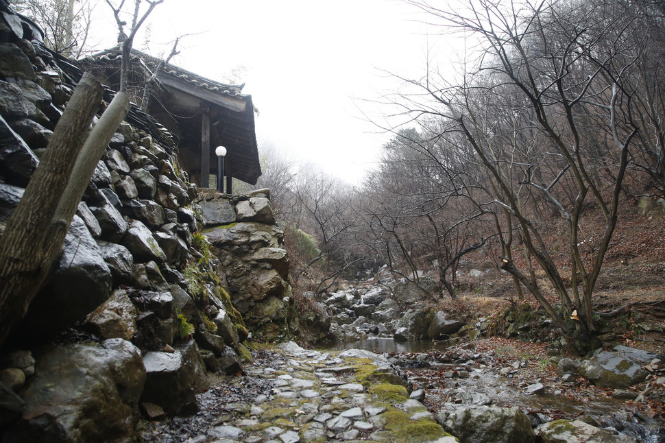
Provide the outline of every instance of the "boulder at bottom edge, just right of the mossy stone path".
{"type": "Polygon", "coordinates": [[[533,442],[531,421],[517,407],[463,407],[440,411],[437,422],[459,439],[460,443],[533,442]]]}

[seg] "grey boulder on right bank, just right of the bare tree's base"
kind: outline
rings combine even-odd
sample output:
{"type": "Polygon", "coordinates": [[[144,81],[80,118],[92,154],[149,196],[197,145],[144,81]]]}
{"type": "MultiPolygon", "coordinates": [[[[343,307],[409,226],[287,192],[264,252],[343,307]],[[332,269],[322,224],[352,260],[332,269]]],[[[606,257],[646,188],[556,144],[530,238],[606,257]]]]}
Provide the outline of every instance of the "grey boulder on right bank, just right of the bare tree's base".
{"type": "Polygon", "coordinates": [[[611,389],[642,383],[647,376],[639,361],[603,350],[597,350],[591,359],[582,361],[577,370],[594,385],[611,389]]]}

